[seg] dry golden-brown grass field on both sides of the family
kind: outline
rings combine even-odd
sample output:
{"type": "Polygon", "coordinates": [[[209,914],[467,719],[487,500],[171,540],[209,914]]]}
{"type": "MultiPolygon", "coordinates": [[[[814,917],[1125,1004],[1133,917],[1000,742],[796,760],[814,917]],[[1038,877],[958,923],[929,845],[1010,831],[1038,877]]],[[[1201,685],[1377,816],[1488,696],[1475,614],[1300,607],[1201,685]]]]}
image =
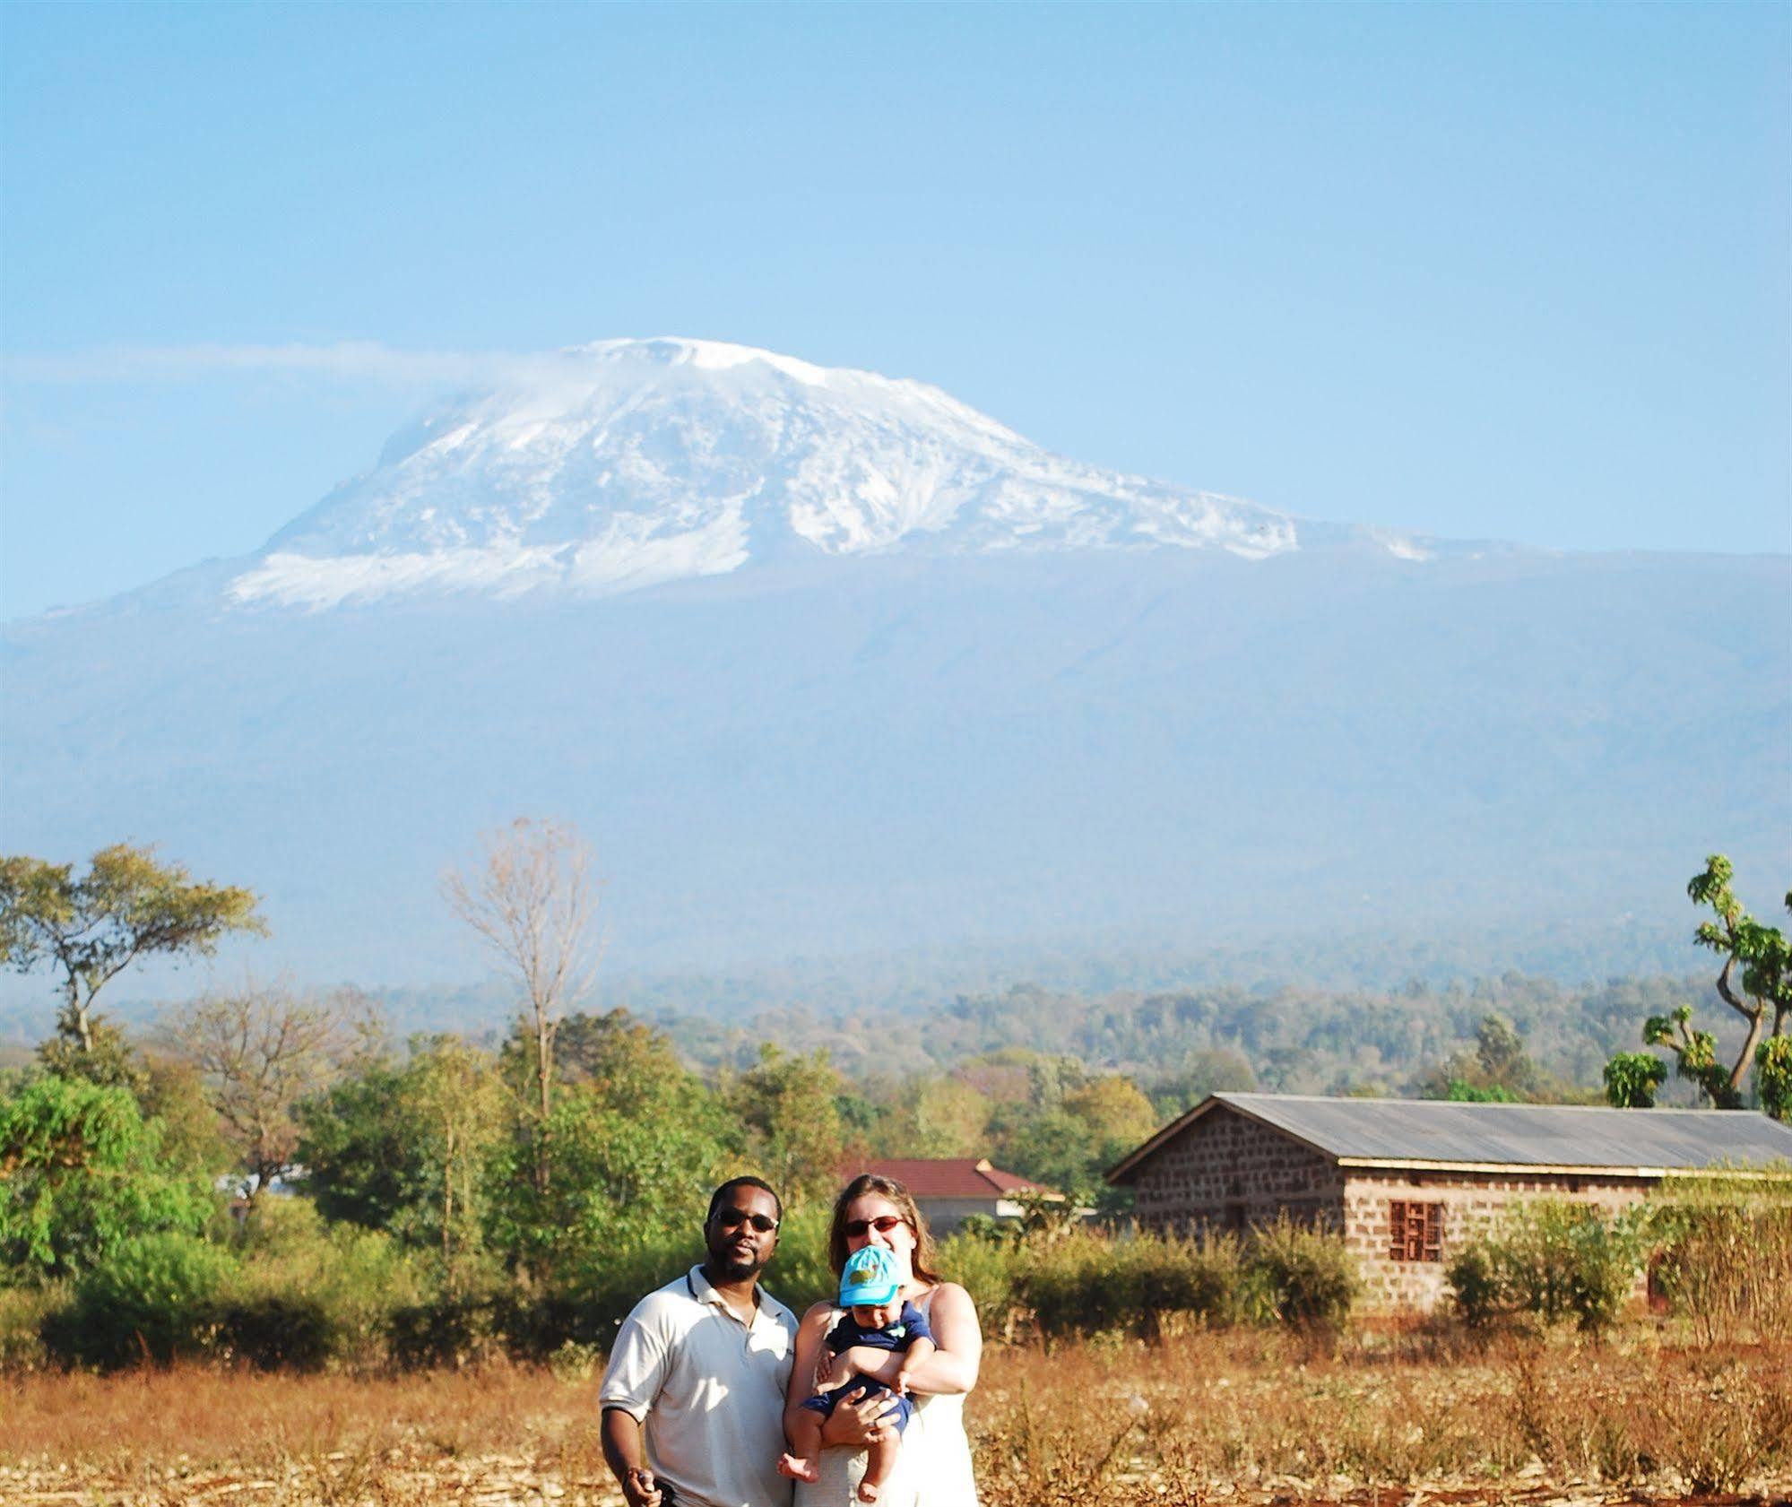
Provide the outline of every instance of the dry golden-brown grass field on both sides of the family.
{"type": "MultiPolygon", "coordinates": [[[[217,1369],[0,1382],[0,1502],[620,1503],[591,1376],[217,1369]]],[[[987,1507],[1792,1500],[1792,1349],[1279,1333],[996,1349],[987,1507]]]]}

